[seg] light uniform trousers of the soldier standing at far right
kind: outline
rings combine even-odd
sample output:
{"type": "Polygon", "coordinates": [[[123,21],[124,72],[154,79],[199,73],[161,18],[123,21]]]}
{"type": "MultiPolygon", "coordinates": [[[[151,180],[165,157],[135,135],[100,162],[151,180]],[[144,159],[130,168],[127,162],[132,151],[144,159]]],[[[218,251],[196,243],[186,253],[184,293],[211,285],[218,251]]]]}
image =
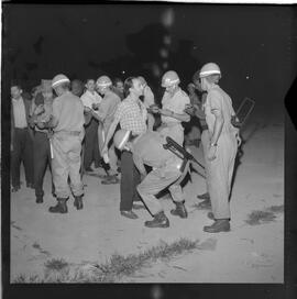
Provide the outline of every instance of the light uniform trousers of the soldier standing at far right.
{"type": "Polygon", "coordinates": [[[237,139],[221,133],[218,140],[217,157],[208,162],[208,187],[215,219],[229,219],[229,195],[237,156],[237,139]]]}

